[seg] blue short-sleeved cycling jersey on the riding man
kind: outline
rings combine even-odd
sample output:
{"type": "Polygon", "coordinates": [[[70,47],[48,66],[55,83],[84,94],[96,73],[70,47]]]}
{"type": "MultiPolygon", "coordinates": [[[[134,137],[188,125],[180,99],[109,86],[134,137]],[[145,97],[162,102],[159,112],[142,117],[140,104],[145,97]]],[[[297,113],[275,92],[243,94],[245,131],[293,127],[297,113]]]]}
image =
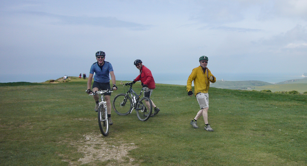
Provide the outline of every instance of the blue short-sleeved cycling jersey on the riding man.
{"type": "Polygon", "coordinates": [[[104,61],[103,66],[99,66],[98,62],[95,62],[91,66],[90,74],[94,74],[94,81],[107,83],[110,82],[110,72],[113,71],[113,67],[110,62],[104,61]]]}

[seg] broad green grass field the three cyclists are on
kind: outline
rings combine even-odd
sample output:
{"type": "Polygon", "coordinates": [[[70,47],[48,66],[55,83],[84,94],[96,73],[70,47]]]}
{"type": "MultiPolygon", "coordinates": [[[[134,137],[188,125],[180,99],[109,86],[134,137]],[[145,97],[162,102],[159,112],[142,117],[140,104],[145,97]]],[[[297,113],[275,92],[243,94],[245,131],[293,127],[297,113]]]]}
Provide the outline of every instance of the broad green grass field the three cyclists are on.
{"type": "MultiPolygon", "coordinates": [[[[134,143],[128,157],[136,165],[307,165],[307,96],[210,88],[208,120],[215,131],[208,132],[202,117],[199,129],[189,124],[200,108],[185,86],[157,84],[151,98],[158,115],[142,122],[135,111],[119,116],[112,110],[114,125],[103,137],[87,80],[78,79],[0,87],[0,165],[81,165],[86,154],[78,149],[91,134],[107,142],[94,149],[134,143]]],[[[117,85],[112,100],[125,92],[117,85]]],[[[140,83],[133,88],[139,92],[140,83]]]]}

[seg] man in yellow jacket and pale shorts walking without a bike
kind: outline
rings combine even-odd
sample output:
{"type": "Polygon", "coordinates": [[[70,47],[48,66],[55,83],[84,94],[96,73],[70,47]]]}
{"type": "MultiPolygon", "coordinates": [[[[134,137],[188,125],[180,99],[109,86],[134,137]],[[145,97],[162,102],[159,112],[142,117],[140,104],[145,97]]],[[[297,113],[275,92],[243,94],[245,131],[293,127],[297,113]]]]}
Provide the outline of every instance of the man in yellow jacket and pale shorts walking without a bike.
{"type": "Polygon", "coordinates": [[[200,66],[194,68],[190,74],[187,82],[188,96],[192,97],[192,81],[194,81],[194,93],[197,98],[200,110],[196,114],[195,118],[191,121],[191,125],[194,128],[198,128],[197,119],[203,115],[205,121],[205,130],[214,131],[208,123],[208,109],[209,109],[209,95],[208,90],[210,82],[216,82],[216,77],[212,75],[210,70],[207,68],[208,57],[201,56],[199,58],[200,66]],[[209,82],[210,81],[210,82],[209,82]]]}

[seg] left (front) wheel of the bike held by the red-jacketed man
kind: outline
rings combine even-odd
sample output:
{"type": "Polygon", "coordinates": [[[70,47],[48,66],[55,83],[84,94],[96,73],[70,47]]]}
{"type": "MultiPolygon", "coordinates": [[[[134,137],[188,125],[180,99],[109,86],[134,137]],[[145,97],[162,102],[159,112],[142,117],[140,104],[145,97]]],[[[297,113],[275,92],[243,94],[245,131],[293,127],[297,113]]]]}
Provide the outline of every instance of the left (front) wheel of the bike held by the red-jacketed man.
{"type": "Polygon", "coordinates": [[[126,94],[119,93],[113,99],[113,109],[118,115],[128,115],[132,110],[132,100],[129,96],[126,97],[126,94]]]}

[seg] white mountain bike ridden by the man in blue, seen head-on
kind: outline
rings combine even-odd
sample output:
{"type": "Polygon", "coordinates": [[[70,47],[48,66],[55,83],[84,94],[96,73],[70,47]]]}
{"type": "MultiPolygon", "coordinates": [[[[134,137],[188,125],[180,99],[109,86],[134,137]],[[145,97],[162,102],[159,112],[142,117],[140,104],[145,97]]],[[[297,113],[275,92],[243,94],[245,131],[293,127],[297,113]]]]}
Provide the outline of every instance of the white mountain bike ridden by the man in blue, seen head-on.
{"type": "MultiPolygon", "coordinates": [[[[87,92],[87,91],[86,91],[87,92]]],[[[89,95],[99,95],[100,102],[98,107],[98,125],[102,135],[107,136],[109,134],[109,121],[107,112],[107,102],[104,99],[103,93],[113,92],[111,90],[95,91],[89,95]]]]}

